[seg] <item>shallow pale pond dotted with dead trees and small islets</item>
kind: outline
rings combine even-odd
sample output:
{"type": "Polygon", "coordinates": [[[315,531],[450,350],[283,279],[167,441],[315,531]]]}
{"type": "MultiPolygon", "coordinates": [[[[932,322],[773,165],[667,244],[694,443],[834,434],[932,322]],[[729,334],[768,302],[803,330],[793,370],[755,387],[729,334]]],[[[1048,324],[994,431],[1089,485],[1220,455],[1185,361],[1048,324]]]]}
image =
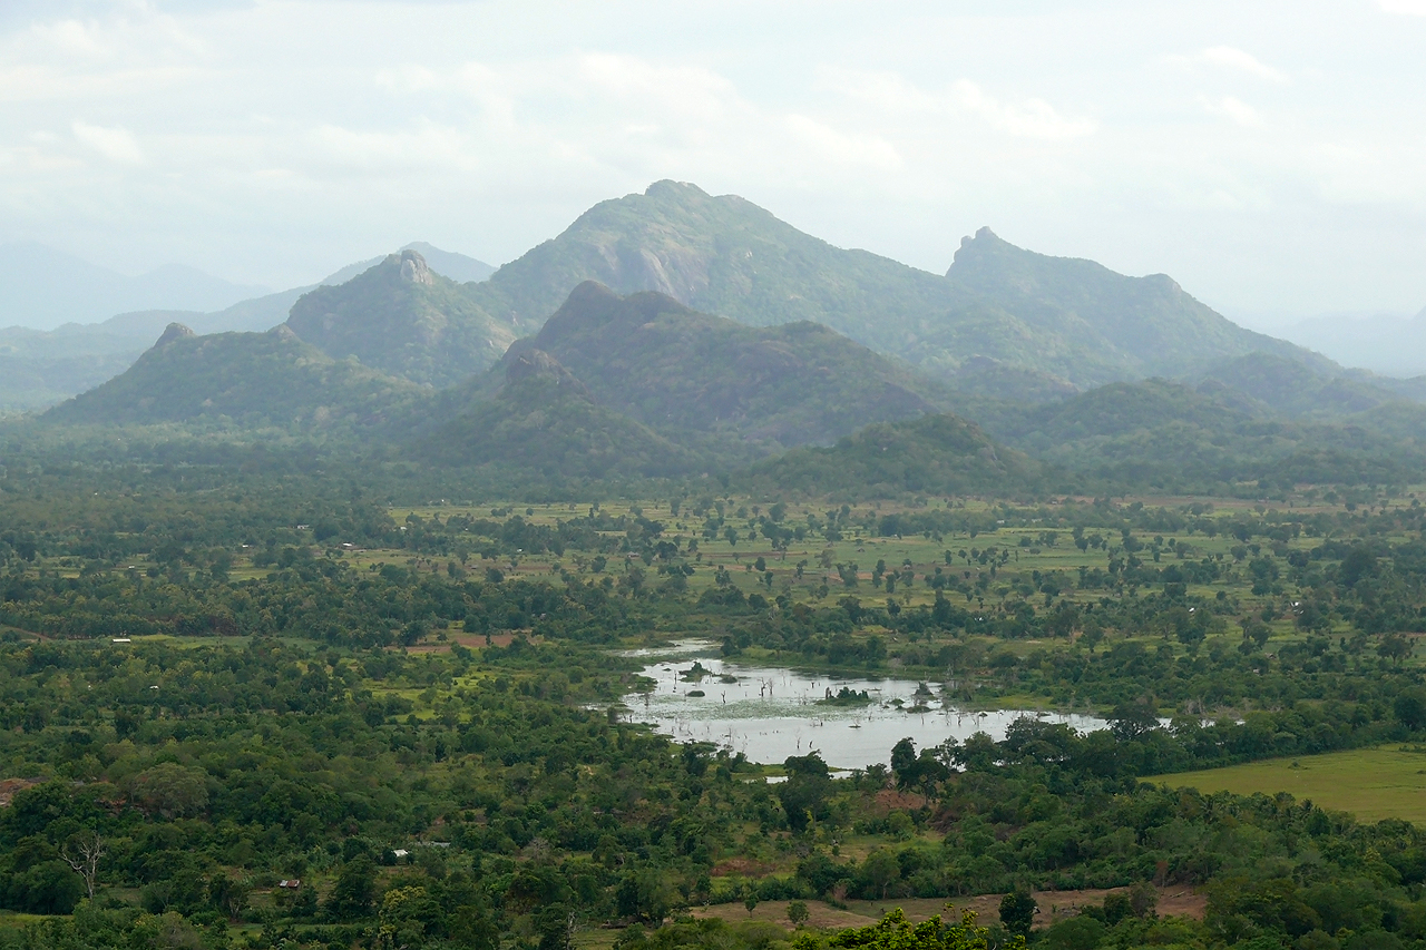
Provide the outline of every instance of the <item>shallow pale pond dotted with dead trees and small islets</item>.
{"type": "Polygon", "coordinates": [[[630,693],[623,702],[635,722],[652,723],[679,742],[713,742],[742,752],[753,762],[781,763],[789,756],[819,752],[827,765],[861,769],[888,763],[891,746],[910,736],[917,749],[954,736],[965,740],[975,732],[994,739],[1021,716],[1062,722],[1081,732],[1104,729],[1104,719],[1079,715],[1001,709],[971,710],[940,700],[940,685],[928,683],[933,698],[917,698],[918,683],[907,679],[846,679],[811,676],[771,666],[742,666],[726,662],[714,643],[683,642],[673,649],[650,650],[662,656],[643,669],[656,682],[650,693],[630,693]],[[699,662],[707,675],[700,682],[680,679],[699,662]],[[737,682],[723,683],[724,675],[737,682]],[[819,702],[830,689],[866,690],[873,702],[864,706],[833,706],[819,702]],[[703,696],[689,696],[703,690],[703,696]],[[901,700],[898,708],[894,700],[901,700]],[[928,712],[903,712],[917,703],[928,712]]]}

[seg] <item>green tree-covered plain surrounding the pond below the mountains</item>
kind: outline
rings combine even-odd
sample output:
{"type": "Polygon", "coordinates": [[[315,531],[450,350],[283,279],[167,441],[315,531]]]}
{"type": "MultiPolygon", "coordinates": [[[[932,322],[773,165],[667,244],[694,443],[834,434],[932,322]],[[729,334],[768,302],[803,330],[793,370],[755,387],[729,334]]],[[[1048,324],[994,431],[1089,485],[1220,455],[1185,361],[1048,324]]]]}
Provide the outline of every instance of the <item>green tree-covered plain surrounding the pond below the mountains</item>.
{"type": "MultiPolygon", "coordinates": [[[[579,395],[529,369],[511,394],[579,395]]],[[[0,929],[0,947],[568,950],[635,924],[620,950],[769,950],[786,927],[683,910],[1091,887],[1115,890],[1031,937],[1426,939],[1419,827],[1142,782],[1419,736],[1426,509],[1409,496],[853,508],[700,479],[677,509],[663,494],[416,514],[348,469],[21,449],[0,481],[0,759],[17,779],[0,906],[56,916],[0,929]],[[761,576],[729,571],[733,553],[761,576]],[[877,565],[870,583],[856,561],[877,565]],[[767,785],[620,706],[646,662],[625,650],[687,636],[749,663],[894,669],[924,682],[917,705],[1030,700],[1108,727],[1022,717],[998,740],[900,742],[890,769],[844,777],[794,756],[767,785]],[[71,863],[86,842],[104,846],[93,900],[71,863]],[[1202,890],[1206,919],[1158,919],[1151,882],[1202,890]]],[[[990,931],[893,917],[790,939],[1010,946],[1010,911],[990,931]]]]}

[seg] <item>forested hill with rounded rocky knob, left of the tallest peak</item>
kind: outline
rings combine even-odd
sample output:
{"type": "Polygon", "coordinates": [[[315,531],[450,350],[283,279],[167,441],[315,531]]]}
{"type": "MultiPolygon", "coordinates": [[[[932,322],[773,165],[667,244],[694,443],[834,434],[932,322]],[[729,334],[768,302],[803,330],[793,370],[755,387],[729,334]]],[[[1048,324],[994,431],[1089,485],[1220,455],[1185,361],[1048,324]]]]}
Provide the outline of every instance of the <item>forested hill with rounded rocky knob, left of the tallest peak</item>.
{"type": "Polygon", "coordinates": [[[499,359],[516,332],[482,307],[479,284],[456,284],[414,250],[391,254],[337,287],[304,294],[287,325],[329,357],[446,387],[499,359]]]}

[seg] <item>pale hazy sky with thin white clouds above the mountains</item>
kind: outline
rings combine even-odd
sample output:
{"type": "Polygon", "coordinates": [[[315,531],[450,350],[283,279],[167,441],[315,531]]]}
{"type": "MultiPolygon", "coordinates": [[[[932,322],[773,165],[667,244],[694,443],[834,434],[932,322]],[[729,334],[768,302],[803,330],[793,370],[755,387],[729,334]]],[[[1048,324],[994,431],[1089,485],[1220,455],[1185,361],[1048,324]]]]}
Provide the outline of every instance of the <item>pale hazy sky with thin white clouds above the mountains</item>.
{"type": "Polygon", "coordinates": [[[1426,305],[1426,0],[0,0],[0,242],[295,285],[657,178],[944,271],[1426,305]]]}

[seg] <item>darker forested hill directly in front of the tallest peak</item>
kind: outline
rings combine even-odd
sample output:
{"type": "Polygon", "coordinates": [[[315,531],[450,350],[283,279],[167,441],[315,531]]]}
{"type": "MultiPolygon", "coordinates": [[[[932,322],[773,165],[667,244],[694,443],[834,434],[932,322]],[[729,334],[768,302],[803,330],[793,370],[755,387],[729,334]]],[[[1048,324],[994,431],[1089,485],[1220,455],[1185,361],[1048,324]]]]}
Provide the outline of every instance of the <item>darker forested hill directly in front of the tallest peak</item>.
{"type": "Polygon", "coordinates": [[[819,324],[746,327],[665,294],[620,297],[593,281],[506,361],[530,349],[553,357],[595,401],[674,441],[722,434],[760,452],[937,412],[950,397],[819,324]]]}

